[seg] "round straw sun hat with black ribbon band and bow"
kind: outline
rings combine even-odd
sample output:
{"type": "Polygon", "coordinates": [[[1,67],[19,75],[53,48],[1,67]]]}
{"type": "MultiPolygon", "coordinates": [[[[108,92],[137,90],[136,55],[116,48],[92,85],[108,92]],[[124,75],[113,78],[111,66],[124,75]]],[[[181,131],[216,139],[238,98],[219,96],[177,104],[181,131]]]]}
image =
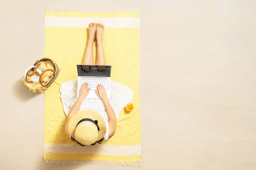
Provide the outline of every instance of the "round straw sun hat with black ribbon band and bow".
{"type": "Polygon", "coordinates": [[[80,111],[70,120],[68,132],[79,143],[90,145],[105,136],[107,129],[102,116],[95,111],[80,111]]]}

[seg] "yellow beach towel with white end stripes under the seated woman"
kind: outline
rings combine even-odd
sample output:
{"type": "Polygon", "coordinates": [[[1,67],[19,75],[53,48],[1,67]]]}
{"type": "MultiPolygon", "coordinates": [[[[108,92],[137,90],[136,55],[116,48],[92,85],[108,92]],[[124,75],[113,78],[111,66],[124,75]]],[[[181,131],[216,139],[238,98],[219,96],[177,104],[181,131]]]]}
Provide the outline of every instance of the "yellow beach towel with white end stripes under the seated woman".
{"type": "MultiPolygon", "coordinates": [[[[60,68],[57,79],[45,92],[46,164],[96,163],[140,167],[139,40],[138,10],[46,10],[44,57],[54,60],[60,68]],[[121,111],[116,133],[108,142],[81,147],[65,133],[67,116],[61,103],[59,88],[62,83],[77,77],[76,65],[82,62],[88,24],[92,22],[105,25],[103,42],[106,62],[112,65],[111,80],[133,90],[134,109],[130,113],[124,109],[121,111]]],[[[93,50],[95,51],[95,46],[93,50]]]]}

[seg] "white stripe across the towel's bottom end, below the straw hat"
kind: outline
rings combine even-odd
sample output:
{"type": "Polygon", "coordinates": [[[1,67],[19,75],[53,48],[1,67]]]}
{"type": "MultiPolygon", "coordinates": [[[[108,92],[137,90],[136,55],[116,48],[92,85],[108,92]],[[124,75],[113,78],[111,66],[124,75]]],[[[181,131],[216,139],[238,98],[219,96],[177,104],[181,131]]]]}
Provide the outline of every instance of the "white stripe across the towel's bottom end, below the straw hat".
{"type": "Polygon", "coordinates": [[[81,147],[79,144],[44,143],[44,153],[52,154],[101,154],[113,156],[136,156],[141,154],[138,145],[109,145],[96,144],[81,147]]]}

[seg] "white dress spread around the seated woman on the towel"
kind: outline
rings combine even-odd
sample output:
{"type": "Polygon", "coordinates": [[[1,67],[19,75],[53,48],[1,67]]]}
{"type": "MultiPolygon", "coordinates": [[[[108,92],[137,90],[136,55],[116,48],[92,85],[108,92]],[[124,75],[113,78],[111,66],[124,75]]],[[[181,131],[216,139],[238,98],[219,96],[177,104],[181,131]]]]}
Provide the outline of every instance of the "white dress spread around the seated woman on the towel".
{"type": "MultiPolygon", "coordinates": [[[[77,101],[77,79],[64,82],[60,87],[60,92],[64,112],[68,115],[71,108],[77,101]]],[[[116,119],[119,117],[122,108],[131,102],[132,96],[133,91],[130,88],[122,85],[121,83],[111,81],[109,103],[115,112],[116,119]]],[[[79,111],[84,110],[91,110],[99,113],[105,120],[106,127],[108,127],[108,115],[101,99],[84,99],[79,111]]],[[[108,141],[108,128],[104,137],[105,140],[103,142],[108,141]]]]}

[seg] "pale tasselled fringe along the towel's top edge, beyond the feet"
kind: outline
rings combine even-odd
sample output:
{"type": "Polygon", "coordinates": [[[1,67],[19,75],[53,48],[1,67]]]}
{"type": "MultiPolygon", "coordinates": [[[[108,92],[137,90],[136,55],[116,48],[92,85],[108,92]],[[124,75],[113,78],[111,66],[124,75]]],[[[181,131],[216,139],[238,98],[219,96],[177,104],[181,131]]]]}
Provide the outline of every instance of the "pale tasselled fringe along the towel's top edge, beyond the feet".
{"type": "Polygon", "coordinates": [[[89,8],[46,8],[45,12],[84,12],[84,13],[116,13],[116,12],[136,12],[139,8],[113,8],[113,9],[89,9],[89,8]]]}

